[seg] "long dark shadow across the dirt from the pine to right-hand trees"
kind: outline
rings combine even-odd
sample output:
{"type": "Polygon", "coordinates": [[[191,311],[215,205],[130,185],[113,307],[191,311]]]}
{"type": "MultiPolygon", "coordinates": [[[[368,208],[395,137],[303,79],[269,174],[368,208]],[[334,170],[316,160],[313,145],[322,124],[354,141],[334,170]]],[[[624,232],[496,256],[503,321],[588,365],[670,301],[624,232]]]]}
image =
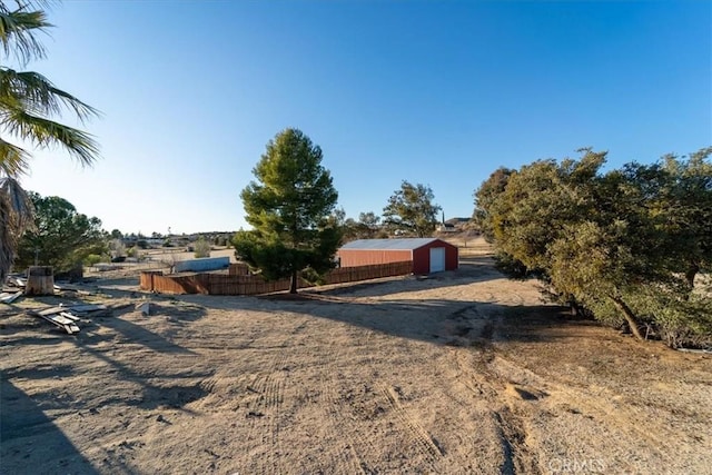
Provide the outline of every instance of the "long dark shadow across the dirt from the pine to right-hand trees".
{"type": "MultiPolygon", "coordinates": [[[[377,289],[378,285],[374,284],[375,293],[382,291],[377,289]]],[[[403,288],[402,284],[399,288],[403,288]]],[[[407,289],[402,290],[398,295],[407,291],[407,289]]],[[[545,342],[561,337],[556,331],[551,331],[551,328],[577,324],[571,319],[567,308],[552,305],[522,306],[446,298],[359,300],[358,297],[304,290],[296,296],[285,293],[259,297],[186,295],[180,298],[206,308],[236,313],[241,310],[293,313],[296,316],[342,321],[399,338],[447,345],[466,345],[468,339],[479,342],[482,338],[491,338],[495,327],[508,328],[517,325],[525,325],[527,329],[508,331],[507,338],[545,342]]]]}

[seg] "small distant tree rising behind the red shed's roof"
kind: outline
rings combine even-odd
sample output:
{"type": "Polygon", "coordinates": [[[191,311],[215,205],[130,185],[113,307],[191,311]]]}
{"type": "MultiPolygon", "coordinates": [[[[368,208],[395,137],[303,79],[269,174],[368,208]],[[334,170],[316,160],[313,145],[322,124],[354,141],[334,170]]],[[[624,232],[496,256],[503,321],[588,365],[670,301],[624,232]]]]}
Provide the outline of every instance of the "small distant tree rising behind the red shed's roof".
{"type": "Polygon", "coordinates": [[[442,210],[433,202],[434,199],[431,187],[404,180],[383,209],[384,224],[418,237],[429,236],[435,230],[437,215],[442,210]]]}

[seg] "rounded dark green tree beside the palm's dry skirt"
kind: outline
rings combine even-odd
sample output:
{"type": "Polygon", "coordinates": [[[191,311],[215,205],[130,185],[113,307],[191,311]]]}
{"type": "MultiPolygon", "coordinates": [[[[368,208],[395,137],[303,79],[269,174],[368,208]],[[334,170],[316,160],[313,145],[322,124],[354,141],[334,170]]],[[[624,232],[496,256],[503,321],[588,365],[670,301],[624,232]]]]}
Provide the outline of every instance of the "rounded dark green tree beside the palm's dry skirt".
{"type": "Polygon", "coordinates": [[[89,218],[57,196],[30,192],[34,205],[34,228],[20,239],[16,267],[34,264],[52,266],[56,271],[71,269],[90,254],[107,251],[107,235],[99,218],[89,218]]]}

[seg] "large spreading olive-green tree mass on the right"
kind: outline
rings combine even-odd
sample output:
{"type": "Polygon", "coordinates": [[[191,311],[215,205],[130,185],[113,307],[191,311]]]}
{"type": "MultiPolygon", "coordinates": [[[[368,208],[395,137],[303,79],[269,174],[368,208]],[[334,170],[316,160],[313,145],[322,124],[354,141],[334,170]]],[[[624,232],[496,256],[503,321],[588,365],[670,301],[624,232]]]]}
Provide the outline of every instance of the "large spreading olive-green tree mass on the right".
{"type": "Polygon", "coordinates": [[[504,186],[493,175],[477,191],[503,268],[639,338],[647,326],[671,345],[712,340],[712,301],[694,286],[710,270],[710,149],[605,174],[605,152],[581,152],[523,166],[504,186]]]}

